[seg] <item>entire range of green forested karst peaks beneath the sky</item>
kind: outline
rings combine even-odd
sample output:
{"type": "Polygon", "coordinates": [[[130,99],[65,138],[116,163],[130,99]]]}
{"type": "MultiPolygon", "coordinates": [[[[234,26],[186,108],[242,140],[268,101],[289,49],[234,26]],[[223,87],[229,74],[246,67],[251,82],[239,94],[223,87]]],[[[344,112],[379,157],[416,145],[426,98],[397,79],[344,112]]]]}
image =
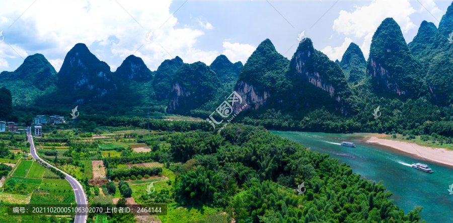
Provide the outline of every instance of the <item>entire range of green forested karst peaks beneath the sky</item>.
{"type": "MultiPolygon", "coordinates": [[[[85,44],[77,44],[58,75],[36,54],[18,70],[2,72],[5,82],[0,83],[11,90],[13,106],[22,111],[80,105],[86,114],[152,112],[206,119],[236,91],[248,105],[236,122],[329,132],[432,134],[443,129],[442,135],[453,137],[453,44],[448,41],[452,24],[453,5],[438,28],[422,22],[407,44],[400,26],[387,18],[372,37],[366,62],[353,43],[342,61],[334,62],[307,38],[288,60],[265,39],[244,66],[224,55],[209,66],[184,63],[177,56],[150,71],[139,57],[129,56],[111,72],[85,44]],[[36,83],[33,78],[19,79],[27,73],[46,78],[36,83]],[[382,116],[375,119],[372,113],[378,106],[382,116]]],[[[236,112],[242,108],[235,106],[236,112]]]]}

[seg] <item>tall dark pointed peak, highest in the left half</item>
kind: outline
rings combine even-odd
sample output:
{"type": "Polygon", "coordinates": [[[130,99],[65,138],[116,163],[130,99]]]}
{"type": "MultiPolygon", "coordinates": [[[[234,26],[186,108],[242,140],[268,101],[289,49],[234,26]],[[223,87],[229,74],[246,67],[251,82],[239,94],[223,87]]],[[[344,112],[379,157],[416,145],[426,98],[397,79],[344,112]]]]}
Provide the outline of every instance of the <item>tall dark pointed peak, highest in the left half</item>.
{"type": "Polygon", "coordinates": [[[92,101],[118,92],[110,66],[100,61],[83,43],[75,44],[58,72],[59,90],[73,102],[92,101]]]}

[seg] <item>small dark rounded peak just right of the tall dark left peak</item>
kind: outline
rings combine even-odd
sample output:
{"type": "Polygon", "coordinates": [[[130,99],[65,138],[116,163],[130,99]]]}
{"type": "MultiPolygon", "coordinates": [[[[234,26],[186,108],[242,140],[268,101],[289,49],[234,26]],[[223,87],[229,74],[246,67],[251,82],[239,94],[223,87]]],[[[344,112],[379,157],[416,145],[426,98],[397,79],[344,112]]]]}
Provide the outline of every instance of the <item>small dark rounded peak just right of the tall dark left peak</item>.
{"type": "Polygon", "coordinates": [[[134,55],[126,57],[114,74],[124,81],[147,82],[153,78],[143,60],[134,55]]]}

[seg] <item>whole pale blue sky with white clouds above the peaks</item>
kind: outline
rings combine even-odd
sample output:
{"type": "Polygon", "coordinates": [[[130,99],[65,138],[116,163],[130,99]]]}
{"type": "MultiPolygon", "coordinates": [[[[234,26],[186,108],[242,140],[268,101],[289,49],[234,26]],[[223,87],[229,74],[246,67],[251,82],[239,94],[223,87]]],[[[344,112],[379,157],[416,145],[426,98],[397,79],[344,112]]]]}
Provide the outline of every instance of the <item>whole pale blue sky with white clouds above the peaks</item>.
{"type": "Polygon", "coordinates": [[[0,7],[0,71],[43,54],[58,71],[66,53],[85,43],[112,71],[129,55],[150,70],[179,56],[209,65],[220,54],[242,61],[265,39],[290,59],[300,33],[331,60],[351,42],[368,57],[371,37],[388,17],[406,42],[423,20],[438,26],[451,1],[134,1],[23,0],[0,7]],[[305,31],[305,32],[304,32],[305,31]]]}

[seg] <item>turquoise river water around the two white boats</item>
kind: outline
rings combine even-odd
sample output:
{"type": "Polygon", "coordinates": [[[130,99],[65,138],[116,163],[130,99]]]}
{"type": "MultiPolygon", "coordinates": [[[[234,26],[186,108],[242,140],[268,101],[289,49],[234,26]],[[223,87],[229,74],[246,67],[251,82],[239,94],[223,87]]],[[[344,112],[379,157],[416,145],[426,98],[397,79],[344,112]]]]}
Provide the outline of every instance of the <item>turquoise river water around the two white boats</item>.
{"type": "Polygon", "coordinates": [[[453,222],[453,195],[447,191],[449,185],[453,184],[451,167],[363,142],[364,133],[271,132],[300,142],[312,151],[330,154],[330,157],[350,165],[354,173],[368,180],[382,180],[387,190],[393,193],[390,199],[405,213],[414,206],[423,206],[420,216],[427,222],[453,222]],[[340,142],[345,140],[354,142],[357,147],[341,146],[340,142]],[[413,169],[412,163],[426,163],[434,173],[413,169]]]}

